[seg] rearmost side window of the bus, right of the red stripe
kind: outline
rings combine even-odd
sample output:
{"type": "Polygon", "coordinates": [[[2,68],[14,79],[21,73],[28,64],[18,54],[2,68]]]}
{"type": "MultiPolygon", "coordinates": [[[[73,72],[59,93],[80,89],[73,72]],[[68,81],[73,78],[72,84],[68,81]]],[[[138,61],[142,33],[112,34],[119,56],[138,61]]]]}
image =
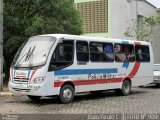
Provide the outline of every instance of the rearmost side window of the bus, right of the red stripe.
{"type": "Polygon", "coordinates": [[[136,61],[140,61],[140,62],[150,61],[148,46],[141,46],[141,45],[135,46],[135,53],[136,53],[136,61]]]}

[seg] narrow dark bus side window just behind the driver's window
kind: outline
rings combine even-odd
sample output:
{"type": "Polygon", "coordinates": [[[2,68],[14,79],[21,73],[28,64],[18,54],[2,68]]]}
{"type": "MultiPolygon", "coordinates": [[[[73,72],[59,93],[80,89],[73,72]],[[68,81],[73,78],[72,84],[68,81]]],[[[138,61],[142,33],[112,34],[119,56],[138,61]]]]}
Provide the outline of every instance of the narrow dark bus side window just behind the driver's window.
{"type": "Polygon", "coordinates": [[[88,42],[77,41],[76,42],[76,52],[77,52],[78,62],[88,62],[89,61],[88,42]]]}

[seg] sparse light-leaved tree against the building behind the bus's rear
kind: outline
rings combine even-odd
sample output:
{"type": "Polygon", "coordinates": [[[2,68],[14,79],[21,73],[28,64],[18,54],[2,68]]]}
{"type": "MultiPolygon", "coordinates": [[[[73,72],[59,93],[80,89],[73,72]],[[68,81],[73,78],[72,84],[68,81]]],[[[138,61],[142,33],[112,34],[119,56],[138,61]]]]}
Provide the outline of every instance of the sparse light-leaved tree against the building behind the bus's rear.
{"type": "Polygon", "coordinates": [[[138,20],[134,19],[128,22],[129,27],[127,27],[124,33],[125,37],[134,37],[137,40],[149,41],[151,35],[156,34],[160,29],[160,17],[145,17],[144,19],[138,20]]]}

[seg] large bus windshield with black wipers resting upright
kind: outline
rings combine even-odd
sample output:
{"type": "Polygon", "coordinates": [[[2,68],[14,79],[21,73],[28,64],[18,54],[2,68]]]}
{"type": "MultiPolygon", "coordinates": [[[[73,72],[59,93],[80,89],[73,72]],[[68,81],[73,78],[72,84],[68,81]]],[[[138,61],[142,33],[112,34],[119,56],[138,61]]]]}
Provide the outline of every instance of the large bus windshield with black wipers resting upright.
{"type": "Polygon", "coordinates": [[[31,37],[18,50],[13,65],[15,67],[37,67],[46,63],[55,38],[49,36],[31,37]]]}

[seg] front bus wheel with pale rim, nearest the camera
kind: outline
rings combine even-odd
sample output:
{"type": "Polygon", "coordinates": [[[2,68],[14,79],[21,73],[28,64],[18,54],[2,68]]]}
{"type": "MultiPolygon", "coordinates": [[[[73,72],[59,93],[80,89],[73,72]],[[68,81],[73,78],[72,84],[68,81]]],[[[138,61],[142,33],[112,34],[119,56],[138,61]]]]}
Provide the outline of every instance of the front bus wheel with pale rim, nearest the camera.
{"type": "Polygon", "coordinates": [[[62,103],[70,103],[74,98],[74,88],[71,85],[64,85],[61,88],[59,99],[62,103]]]}

